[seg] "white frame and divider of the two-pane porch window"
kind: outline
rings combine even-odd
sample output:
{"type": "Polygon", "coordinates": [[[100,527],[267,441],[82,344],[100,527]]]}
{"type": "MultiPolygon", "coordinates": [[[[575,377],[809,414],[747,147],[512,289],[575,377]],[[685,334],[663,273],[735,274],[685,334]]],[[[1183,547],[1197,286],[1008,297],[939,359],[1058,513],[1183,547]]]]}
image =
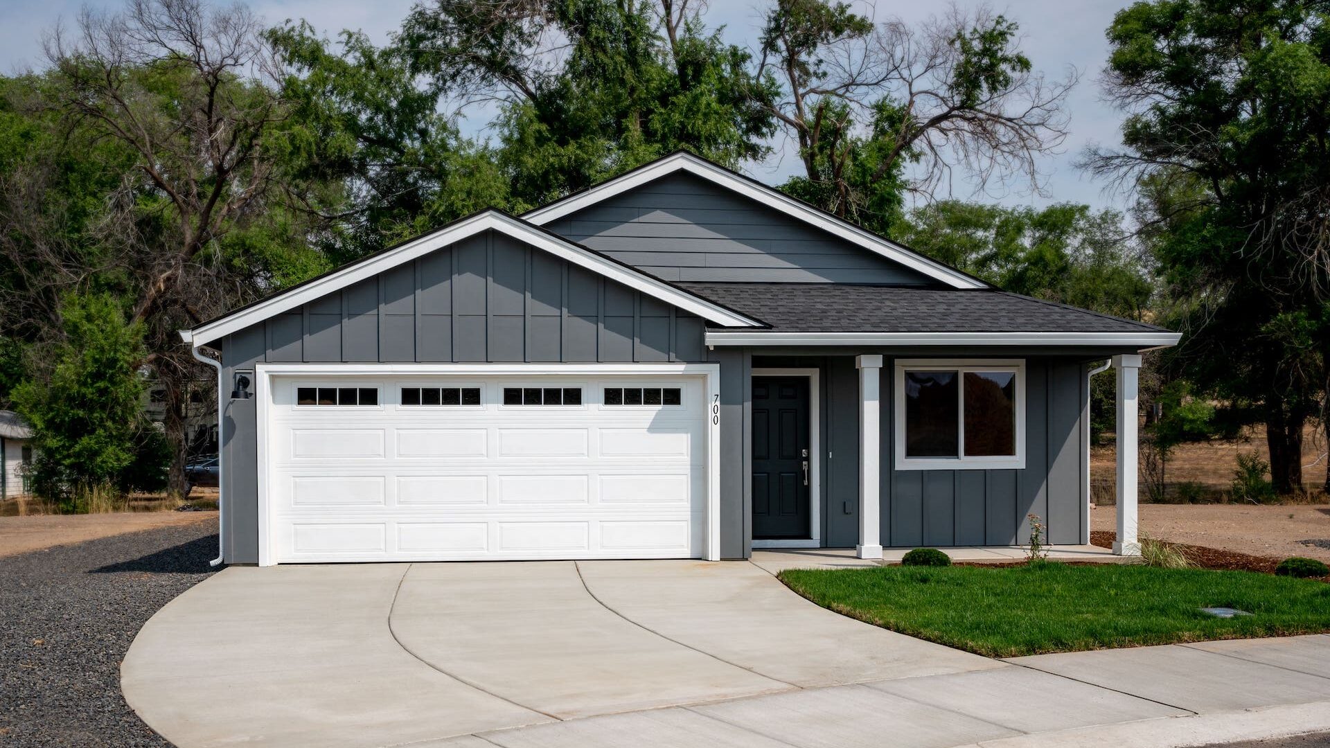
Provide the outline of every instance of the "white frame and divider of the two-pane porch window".
{"type": "Polygon", "coordinates": [[[895,423],[896,470],[1023,470],[1025,467],[1025,359],[1023,358],[906,358],[896,359],[892,421],[895,423]],[[960,381],[959,433],[956,450],[966,447],[967,371],[1013,371],[1016,374],[1016,455],[1015,457],[906,457],[906,371],[956,371],[960,381]]]}

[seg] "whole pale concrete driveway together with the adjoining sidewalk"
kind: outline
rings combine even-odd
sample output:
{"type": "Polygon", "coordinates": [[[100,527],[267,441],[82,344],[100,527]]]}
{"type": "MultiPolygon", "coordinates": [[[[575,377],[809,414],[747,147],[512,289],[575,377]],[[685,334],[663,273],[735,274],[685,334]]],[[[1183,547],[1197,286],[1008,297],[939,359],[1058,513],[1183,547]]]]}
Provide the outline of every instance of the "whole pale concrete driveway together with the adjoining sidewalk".
{"type": "Polygon", "coordinates": [[[144,627],[122,689],[182,748],[1198,745],[1330,729],[1330,636],[999,661],[758,563],[237,567],[144,627]]]}

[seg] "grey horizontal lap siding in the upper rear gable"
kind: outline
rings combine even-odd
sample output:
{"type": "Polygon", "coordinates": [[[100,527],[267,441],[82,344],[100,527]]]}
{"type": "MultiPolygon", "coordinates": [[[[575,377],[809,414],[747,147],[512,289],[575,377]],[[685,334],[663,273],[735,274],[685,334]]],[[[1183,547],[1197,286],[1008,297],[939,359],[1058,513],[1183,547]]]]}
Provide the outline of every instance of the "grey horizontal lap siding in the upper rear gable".
{"type": "Polygon", "coordinates": [[[924,276],[688,173],[548,229],[666,281],[928,285],[924,276]]]}

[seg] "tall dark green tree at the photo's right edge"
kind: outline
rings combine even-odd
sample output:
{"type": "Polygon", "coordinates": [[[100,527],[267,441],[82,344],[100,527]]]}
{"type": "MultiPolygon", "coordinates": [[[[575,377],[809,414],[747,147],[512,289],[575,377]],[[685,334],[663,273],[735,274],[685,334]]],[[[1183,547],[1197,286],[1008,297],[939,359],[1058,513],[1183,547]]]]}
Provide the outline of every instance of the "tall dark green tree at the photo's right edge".
{"type": "Polygon", "coordinates": [[[1108,29],[1128,113],[1099,174],[1141,188],[1142,222],[1202,390],[1256,405],[1270,472],[1302,484],[1302,433],[1330,353],[1330,5],[1156,0],[1108,29]]]}

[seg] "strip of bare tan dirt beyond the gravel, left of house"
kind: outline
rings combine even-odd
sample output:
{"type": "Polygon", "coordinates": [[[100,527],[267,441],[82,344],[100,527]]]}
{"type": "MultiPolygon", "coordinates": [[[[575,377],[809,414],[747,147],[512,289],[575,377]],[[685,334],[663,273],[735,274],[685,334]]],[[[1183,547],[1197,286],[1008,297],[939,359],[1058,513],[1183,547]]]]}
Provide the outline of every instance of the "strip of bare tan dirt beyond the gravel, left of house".
{"type": "Polygon", "coordinates": [[[217,520],[215,511],[48,514],[0,516],[0,558],[140,530],[217,520]]]}

